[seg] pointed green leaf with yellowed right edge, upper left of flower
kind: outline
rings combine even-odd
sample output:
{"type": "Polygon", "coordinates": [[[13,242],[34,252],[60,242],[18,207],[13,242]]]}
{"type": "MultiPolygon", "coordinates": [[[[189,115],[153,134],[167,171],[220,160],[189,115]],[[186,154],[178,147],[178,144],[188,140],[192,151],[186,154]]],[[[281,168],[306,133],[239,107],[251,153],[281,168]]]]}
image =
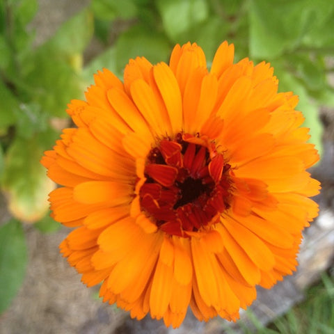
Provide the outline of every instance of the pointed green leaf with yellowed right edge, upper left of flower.
{"type": "Polygon", "coordinates": [[[70,100],[84,97],[81,53],[92,33],[93,15],[83,10],[26,56],[22,76],[29,86],[19,87],[24,101],[40,106],[49,116],[67,117],[65,109],[70,100]]]}

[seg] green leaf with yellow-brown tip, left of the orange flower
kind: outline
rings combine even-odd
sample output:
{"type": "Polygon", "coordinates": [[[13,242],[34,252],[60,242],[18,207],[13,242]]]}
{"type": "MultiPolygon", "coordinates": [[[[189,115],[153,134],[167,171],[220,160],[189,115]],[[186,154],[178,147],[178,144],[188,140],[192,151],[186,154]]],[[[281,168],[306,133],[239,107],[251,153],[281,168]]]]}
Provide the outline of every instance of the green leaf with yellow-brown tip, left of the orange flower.
{"type": "Polygon", "coordinates": [[[38,136],[16,138],[6,154],[2,186],[8,208],[15,218],[33,223],[49,209],[47,196],[55,187],[40,164],[43,146],[38,136]]]}

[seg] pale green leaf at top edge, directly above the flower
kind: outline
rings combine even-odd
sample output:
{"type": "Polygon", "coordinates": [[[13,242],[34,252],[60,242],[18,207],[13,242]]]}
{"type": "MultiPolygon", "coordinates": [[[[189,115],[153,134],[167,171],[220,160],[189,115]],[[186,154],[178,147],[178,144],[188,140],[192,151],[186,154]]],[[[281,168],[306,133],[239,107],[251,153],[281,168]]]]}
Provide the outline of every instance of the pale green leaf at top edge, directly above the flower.
{"type": "Polygon", "coordinates": [[[178,43],[187,42],[187,33],[209,16],[209,6],[205,0],[157,0],[157,8],[166,34],[170,40],[178,43]]]}

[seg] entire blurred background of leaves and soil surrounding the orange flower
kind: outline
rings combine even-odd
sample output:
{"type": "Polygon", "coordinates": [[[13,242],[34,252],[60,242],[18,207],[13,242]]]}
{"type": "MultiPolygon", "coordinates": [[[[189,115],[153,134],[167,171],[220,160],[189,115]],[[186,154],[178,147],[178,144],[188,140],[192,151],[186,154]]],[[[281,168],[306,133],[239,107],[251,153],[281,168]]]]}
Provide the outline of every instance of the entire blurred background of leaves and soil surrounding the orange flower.
{"type": "Polygon", "coordinates": [[[0,333],[334,333],[334,1],[0,0],[0,333]],[[208,65],[223,40],[236,61],[267,61],[280,90],[299,95],[321,161],[320,215],[305,230],[299,268],[241,321],[207,324],[189,312],[177,330],[129,318],[86,289],[58,253],[68,230],[49,218],[55,184],[39,163],[65,109],[102,67],[122,77],[129,58],[168,61],[197,42],[208,65]]]}

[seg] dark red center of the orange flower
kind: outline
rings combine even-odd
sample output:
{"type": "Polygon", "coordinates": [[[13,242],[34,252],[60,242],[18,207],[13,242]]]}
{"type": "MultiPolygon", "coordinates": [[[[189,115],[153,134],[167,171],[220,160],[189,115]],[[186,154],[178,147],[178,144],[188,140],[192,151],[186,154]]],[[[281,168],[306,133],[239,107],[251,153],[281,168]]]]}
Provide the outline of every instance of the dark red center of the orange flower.
{"type": "Polygon", "coordinates": [[[162,139],[146,159],[141,210],[164,232],[189,237],[230,207],[230,165],[206,136],[162,139]]]}

